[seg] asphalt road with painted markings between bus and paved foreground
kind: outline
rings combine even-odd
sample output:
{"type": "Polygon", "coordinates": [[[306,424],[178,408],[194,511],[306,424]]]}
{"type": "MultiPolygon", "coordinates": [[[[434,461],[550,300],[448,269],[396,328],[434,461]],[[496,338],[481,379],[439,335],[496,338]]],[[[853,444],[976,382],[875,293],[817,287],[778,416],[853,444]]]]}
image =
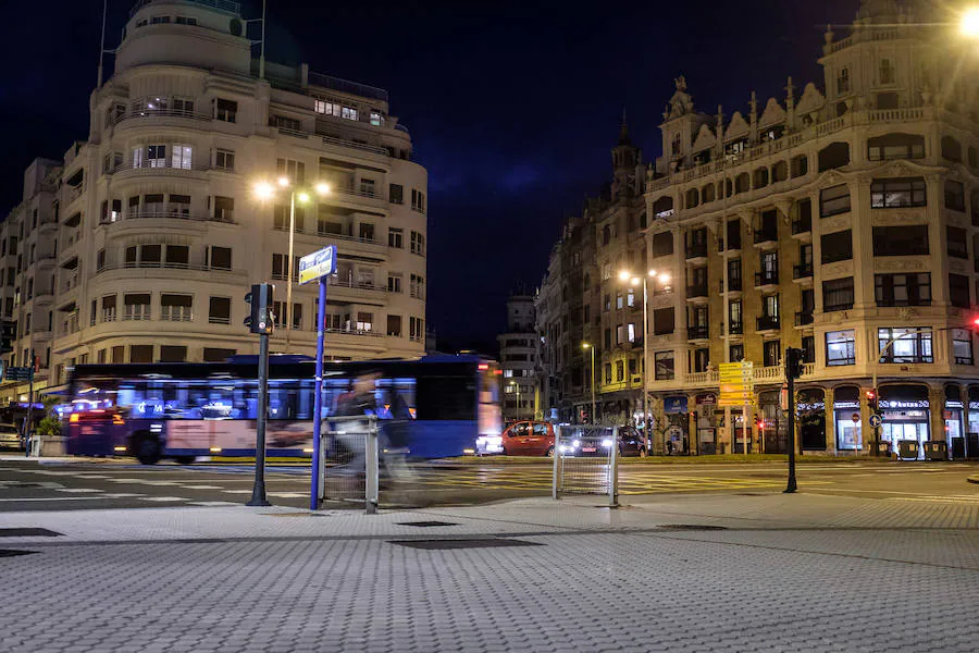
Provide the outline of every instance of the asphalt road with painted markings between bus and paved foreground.
{"type": "MultiPolygon", "coordinates": [[[[785,486],[785,465],[623,465],[619,492],[622,503],[655,493],[774,493],[785,486]]],[[[540,464],[432,464],[412,466],[382,485],[382,506],[466,505],[550,493],[552,467],[540,464]]],[[[583,484],[602,483],[594,465],[566,468],[583,484]]],[[[971,463],[827,463],[798,467],[800,491],[892,502],[967,503],[979,505],[979,475],[971,463]]],[[[307,507],[309,470],[270,466],[267,495],[275,505],[307,507]]],[[[331,507],[360,507],[362,480],[331,477],[331,507]]],[[[92,508],[222,506],[244,504],[251,496],[250,465],[161,464],[147,467],[127,460],[79,459],[38,464],[0,460],[0,512],[72,510],[92,508]]]]}

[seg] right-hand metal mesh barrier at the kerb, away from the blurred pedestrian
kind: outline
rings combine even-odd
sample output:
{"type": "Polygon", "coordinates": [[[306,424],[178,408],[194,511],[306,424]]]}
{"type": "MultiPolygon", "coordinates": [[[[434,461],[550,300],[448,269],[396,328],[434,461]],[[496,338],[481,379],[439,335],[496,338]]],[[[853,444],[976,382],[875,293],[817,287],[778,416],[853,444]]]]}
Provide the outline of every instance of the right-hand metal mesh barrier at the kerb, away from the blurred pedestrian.
{"type": "Polygon", "coordinates": [[[619,428],[555,427],[552,495],[599,494],[619,505],[619,428]]]}

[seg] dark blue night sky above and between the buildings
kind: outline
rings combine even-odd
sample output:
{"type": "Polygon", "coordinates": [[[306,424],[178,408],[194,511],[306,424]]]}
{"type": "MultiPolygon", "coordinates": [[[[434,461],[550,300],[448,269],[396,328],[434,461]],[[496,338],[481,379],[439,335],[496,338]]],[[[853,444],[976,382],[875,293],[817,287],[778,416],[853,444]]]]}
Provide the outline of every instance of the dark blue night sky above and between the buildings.
{"type": "MultiPolygon", "coordinates": [[[[649,161],[684,74],[699,110],[759,110],[815,81],[827,23],[858,0],[751,2],[269,1],[270,60],[386,88],[429,170],[429,321],[439,348],[495,349],[508,295],[532,291],[562,220],[611,171],[625,108],[649,161]],[[413,7],[412,7],[413,5],[413,7]]],[[[35,156],[88,133],[101,0],[4,3],[2,211],[35,156]]],[[[129,0],[110,0],[107,47],[129,0]]],[[[244,3],[246,17],[261,2],[244,3]]],[[[253,27],[257,27],[253,26],[253,27]]],[[[107,63],[111,66],[111,57],[107,63]]],[[[111,67],[109,69],[111,70],[111,67]]]]}

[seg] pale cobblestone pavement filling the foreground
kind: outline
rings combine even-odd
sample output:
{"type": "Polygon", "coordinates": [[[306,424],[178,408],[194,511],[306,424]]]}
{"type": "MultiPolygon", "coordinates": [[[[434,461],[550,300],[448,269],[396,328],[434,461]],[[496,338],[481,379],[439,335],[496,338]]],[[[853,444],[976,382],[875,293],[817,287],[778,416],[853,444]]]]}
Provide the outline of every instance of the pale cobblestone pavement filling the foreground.
{"type": "Polygon", "coordinates": [[[976,650],[975,504],[595,504],[8,513],[0,651],[976,650]]]}

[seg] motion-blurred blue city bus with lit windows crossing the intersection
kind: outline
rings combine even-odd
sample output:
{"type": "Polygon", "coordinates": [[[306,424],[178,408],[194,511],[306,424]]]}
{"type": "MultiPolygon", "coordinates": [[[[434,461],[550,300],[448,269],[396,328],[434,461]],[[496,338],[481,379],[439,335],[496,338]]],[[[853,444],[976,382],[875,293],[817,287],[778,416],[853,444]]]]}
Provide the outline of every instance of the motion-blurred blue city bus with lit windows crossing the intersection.
{"type": "MultiPolygon", "coordinates": [[[[270,357],[267,455],[312,456],[314,367],[307,357],[270,357]]],[[[363,373],[380,377],[374,389],[379,419],[392,418],[400,395],[411,419],[398,432],[413,458],[470,454],[479,436],[503,429],[498,367],[479,356],[326,362],[323,372],[324,420],[363,373]]],[[[136,456],[145,465],[163,458],[189,464],[200,456],[253,456],[257,377],[256,356],[76,366],[69,380],[71,401],[62,409],[65,453],[136,456]]]]}

